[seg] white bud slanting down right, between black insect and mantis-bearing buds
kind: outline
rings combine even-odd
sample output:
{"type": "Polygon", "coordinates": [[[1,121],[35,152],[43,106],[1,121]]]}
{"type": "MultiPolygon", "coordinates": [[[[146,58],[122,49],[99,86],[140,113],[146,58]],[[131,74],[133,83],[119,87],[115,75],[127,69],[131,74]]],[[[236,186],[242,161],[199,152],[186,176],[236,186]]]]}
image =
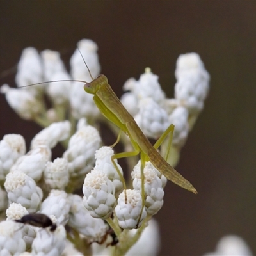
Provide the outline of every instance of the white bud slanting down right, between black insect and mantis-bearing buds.
{"type": "Polygon", "coordinates": [[[70,195],[70,218],[68,225],[75,228],[80,234],[86,236],[90,241],[100,243],[102,238],[106,236],[108,225],[104,220],[93,218],[88,210],[83,206],[83,198],[79,195],[70,195]]]}

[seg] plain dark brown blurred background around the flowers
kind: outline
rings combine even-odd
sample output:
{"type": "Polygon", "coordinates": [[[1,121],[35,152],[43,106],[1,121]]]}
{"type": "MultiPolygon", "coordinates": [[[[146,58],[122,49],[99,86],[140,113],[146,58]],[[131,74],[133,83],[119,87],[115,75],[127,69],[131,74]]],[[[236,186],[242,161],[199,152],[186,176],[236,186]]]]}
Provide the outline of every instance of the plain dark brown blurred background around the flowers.
{"type": "MultiPolygon", "coordinates": [[[[15,72],[4,71],[17,65],[25,47],[60,51],[68,63],[76,43],[90,38],[118,96],[124,81],[150,67],[173,97],[177,57],[197,52],[211,90],[177,170],[199,194],[168,182],[156,215],[160,255],[202,255],[226,234],[243,237],[255,253],[255,11],[253,1],[1,1],[1,84],[14,86],[15,72]]],[[[0,97],[0,137],[19,133],[29,143],[40,127],[0,97]]]]}

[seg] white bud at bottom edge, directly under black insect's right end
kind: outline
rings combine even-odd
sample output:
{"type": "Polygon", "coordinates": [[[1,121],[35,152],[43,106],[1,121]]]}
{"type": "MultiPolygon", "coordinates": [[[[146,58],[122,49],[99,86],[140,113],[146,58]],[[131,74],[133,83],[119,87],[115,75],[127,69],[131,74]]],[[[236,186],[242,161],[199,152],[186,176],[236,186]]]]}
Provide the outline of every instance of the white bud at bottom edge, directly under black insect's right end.
{"type": "Polygon", "coordinates": [[[33,255],[61,255],[66,244],[66,230],[58,225],[54,232],[42,228],[32,244],[33,255]]]}

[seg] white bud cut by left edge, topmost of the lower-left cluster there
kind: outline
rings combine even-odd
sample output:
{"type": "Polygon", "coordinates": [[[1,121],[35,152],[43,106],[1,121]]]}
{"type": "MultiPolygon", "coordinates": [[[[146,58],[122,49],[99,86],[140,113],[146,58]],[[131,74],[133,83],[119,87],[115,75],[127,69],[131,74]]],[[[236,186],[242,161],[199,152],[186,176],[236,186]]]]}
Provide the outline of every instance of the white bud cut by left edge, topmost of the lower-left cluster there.
{"type": "Polygon", "coordinates": [[[3,140],[0,141],[0,180],[5,180],[5,176],[10,171],[10,168],[25,152],[26,144],[21,135],[4,135],[3,140]]]}

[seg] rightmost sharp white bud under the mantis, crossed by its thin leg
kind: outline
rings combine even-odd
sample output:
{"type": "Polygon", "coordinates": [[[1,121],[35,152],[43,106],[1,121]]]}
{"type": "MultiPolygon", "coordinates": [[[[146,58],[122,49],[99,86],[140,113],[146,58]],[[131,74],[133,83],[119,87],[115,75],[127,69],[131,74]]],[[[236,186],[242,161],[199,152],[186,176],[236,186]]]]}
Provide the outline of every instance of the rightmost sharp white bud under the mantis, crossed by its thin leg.
{"type": "MultiPolygon", "coordinates": [[[[136,190],[141,190],[141,161],[134,166],[132,171],[132,185],[136,190]]],[[[145,207],[150,215],[156,214],[163,206],[164,189],[162,181],[157,177],[156,168],[150,162],[146,162],[144,173],[145,207]]]]}

